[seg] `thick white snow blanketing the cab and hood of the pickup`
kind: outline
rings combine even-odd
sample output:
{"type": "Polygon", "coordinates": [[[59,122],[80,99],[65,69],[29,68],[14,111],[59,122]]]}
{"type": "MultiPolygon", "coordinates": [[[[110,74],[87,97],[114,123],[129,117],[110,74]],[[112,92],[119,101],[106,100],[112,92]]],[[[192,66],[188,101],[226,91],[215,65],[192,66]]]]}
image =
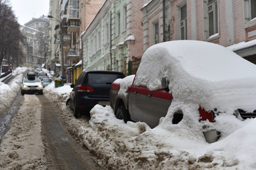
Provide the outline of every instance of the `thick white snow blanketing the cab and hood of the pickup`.
{"type": "Polygon", "coordinates": [[[169,78],[174,98],[207,110],[255,109],[256,66],[231,50],[210,42],[177,40],[149,47],[134,84],[161,89],[169,78]]]}

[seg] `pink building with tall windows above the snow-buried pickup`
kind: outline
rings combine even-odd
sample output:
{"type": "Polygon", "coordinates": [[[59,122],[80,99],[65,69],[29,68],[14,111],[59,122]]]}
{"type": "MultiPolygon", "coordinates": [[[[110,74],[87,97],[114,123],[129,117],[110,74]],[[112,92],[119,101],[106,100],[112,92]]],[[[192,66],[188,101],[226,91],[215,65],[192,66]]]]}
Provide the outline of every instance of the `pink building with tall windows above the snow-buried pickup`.
{"type": "Polygon", "coordinates": [[[256,1],[144,0],[144,50],[168,40],[229,47],[256,64],[256,1]]]}

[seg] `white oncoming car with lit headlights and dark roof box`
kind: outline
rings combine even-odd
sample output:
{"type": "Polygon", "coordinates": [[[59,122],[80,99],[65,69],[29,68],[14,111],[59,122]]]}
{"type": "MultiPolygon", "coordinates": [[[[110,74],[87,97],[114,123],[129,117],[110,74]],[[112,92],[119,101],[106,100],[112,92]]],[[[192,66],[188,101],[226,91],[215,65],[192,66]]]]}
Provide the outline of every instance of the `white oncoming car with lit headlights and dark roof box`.
{"type": "Polygon", "coordinates": [[[43,84],[34,72],[28,72],[21,82],[21,94],[43,94],[43,84]]]}

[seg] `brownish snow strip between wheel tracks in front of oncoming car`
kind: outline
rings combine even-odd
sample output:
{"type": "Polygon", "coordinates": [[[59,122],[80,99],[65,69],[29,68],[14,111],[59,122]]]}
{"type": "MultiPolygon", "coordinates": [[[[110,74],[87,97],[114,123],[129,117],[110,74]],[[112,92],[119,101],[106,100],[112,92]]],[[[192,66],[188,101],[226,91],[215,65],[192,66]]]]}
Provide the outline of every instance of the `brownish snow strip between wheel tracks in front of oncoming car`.
{"type": "Polygon", "coordinates": [[[47,169],[38,106],[41,105],[36,95],[24,96],[10,130],[1,139],[0,169],[47,169]]]}

